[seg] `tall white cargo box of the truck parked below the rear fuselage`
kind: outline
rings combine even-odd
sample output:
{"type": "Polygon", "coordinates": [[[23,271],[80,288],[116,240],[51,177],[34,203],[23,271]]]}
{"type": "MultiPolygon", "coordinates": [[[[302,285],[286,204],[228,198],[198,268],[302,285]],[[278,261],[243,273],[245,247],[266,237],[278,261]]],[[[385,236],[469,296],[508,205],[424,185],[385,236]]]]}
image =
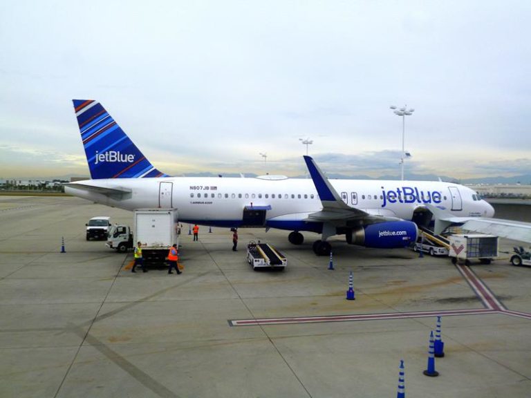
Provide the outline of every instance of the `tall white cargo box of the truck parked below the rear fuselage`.
{"type": "Polygon", "coordinates": [[[145,264],[164,264],[169,248],[179,245],[177,209],[136,209],[134,217],[133,245],[142,242],[145,264]]]}

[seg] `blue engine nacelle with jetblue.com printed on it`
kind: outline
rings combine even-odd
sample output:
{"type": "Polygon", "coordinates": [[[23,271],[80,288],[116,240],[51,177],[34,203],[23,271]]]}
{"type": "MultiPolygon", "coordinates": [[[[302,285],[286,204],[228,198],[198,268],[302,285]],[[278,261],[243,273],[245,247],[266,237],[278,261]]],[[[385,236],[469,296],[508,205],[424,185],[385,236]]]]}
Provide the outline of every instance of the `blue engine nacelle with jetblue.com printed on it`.
{"type": "Polygon", "coordinates": [[[411,221],[386,221],[346,231],[346,243],[365,247],[392,249],[416,242],[418,229],[411,221]]]}

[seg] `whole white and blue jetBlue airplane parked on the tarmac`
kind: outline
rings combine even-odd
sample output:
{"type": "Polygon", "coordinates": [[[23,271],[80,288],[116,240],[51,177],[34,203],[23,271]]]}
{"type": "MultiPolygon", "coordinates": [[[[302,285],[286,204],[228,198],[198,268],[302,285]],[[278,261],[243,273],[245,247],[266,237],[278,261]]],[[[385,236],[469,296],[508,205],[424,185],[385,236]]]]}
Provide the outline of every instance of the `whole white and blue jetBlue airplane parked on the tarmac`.
{"type": "Polygon", "coordinates": [[[177,208],[179,220],[214,227],[286,229],[290,243],[313,232],[317,255],[330,254],[331,236],[365,247],[404,247],[416,241],[418,225],[436,229],[451,222],[487,218],[494,209],[478,193],[450,182],[329,180],[304,156],[310,179],[171,177],[147,160],[105,108],[73,100],[91,180],[65,191],[120,209],[177,208]]]}

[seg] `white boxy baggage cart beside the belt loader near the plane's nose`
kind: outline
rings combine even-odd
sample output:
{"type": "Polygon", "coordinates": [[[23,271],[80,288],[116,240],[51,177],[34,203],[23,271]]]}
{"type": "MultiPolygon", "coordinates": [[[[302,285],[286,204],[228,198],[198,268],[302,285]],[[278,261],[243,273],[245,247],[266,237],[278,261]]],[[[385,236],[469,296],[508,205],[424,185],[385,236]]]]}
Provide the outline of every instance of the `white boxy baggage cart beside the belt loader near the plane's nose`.
{"type": "Polygon", "coordinates": [[[490,264],[492,258],[498,256],[498,236],[483,234],[458,234],[448,237],[450,249],[448,256],[451,262],[469,264],[470,260],[480,260],[482,264],[490,264]]]}

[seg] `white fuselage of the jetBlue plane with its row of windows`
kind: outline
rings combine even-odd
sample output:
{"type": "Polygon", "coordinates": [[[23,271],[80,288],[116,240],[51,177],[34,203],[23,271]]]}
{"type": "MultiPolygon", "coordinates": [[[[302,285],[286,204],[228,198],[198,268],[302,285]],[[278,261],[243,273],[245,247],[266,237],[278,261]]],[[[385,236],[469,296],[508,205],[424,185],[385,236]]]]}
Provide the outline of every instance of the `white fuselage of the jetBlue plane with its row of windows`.
{"type": "MultiPolygon", "coordinates": [[[[66,187],[65,191],[120,209],[177,208],[183,222],[238,226],[243,209],[266,209],[274,227],[295,229],[290,222],[320,211],[322,203],[311,179],[283,178],[113,178],[78,182],[130,193],[106,195],[66,187]],[[286,227],[283,227],[286,222],[286,227]]],[[[431,204],[455,216],[492,217],[492,207],[467,187],[449,182],[330,180],[344,202],[369,214],[411,220],[416,209],[431,204]]],[[[301,229],[303,230],[303,229],[301,229]]]]}

